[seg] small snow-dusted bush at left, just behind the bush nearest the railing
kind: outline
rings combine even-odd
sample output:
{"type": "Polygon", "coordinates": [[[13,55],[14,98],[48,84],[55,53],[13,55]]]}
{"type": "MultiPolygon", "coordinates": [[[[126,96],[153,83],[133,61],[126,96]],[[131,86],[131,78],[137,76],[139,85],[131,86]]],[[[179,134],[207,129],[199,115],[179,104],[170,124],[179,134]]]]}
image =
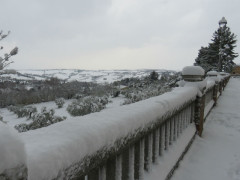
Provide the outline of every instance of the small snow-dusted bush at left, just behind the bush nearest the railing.
{"type": "Polygon", "coordinates": [[[27,117],[31,118],[31,116],[37,112],[37,108],[34,106],[9,106],[8,110],[14,112],[18,118],[27,117]]]}

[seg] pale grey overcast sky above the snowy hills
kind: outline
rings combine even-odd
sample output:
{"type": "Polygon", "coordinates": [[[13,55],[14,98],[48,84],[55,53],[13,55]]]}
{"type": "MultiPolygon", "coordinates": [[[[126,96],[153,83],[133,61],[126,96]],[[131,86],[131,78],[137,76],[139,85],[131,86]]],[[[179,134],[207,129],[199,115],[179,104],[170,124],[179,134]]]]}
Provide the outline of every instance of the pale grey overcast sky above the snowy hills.
{"type": "Polygon", "coordinates": [[[181,70],[207,46],[223,16],[240,37],[240,0],[0,2],[1,29],[11,30],[1,45],[20,49],[14,69],[181,70]]]}

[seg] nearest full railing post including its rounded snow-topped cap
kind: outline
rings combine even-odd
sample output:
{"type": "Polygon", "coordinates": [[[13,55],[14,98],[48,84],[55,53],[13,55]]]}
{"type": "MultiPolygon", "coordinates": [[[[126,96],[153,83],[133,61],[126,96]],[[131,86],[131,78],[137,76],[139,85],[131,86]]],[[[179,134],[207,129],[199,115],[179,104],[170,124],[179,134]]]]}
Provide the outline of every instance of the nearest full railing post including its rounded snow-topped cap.
{"type": "Polygon", "coordinates": [[[198,135],[202,135],[203,122],[204,122],[204,107],[205,107],[205,95],[204,89],[206,88],[206,82],[204,81],[205,71],[200,66],[187,66],[183,68],[182,77],[185,81],[185,85],[198,87],[198,96],[195,101],[195,124],[198,135]]]}

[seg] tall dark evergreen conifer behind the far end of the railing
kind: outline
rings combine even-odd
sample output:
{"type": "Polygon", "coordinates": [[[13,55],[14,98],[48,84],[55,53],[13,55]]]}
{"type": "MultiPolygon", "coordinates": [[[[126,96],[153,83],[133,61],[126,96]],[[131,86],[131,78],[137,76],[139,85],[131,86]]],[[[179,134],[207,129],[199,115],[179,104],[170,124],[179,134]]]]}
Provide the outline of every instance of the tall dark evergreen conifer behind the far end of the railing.
{"type": "Polygon", "coordinates": [[[212,42],[207,47],[201,47],[199,50],[195,65],[202,66],[205,71],[231,72],[232,67],[235,65],[233,60],[238,57],[238,54],[234,52],[237,42],[236,37],[226,24],[220,26],[214,32],[212,42]]]}

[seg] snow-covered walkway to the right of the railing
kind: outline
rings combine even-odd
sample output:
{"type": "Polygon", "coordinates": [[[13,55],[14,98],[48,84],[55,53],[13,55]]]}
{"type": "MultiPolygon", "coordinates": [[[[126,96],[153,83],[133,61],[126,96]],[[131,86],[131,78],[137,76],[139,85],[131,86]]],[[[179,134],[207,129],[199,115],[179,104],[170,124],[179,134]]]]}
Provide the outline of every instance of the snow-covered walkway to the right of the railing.
{"type": "Polygon", "coordinates": [[[172,180],[240,180],[239,92],[232,78],[172,180]]]}

